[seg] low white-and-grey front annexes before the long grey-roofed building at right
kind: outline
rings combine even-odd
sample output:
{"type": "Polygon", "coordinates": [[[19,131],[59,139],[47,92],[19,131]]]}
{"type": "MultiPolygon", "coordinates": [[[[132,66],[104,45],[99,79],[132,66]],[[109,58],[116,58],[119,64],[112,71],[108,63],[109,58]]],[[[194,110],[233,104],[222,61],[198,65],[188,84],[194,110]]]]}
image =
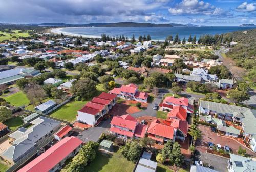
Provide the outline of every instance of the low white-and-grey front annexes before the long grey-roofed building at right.
{"type": "Polygon", "coordinates": [[[226,126],[225,121],[222,119],[212,118],[211,115],[200,115],[199,119],[201,121],[217,125],[218,131],[224,133],[226,136],[238,137],[240,135],[240,130],[234,128],[233,126],[226,126]]]}

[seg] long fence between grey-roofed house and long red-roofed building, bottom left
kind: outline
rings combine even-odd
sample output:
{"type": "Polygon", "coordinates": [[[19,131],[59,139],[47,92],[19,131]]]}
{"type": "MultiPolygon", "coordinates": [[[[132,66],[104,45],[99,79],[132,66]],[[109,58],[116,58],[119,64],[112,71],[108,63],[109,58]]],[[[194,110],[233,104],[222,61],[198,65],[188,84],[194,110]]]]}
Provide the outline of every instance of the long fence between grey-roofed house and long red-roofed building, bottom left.
{"type": "MultiPolygon", "coordinates": [[[[57,128],[55,128],[54,132],[58,131],[61,127],[62,125],[59,125],[57,128]]],[[[53,139],[54,135],[51,135],[45,141],[36,146],[31,152],[29,152],[27,155],[18,160],[13,166],[7,169],[6,172],[16,171],[21,165],[23,165],[26,161],[32,158],[32,156],[34,156],[42,147],[45,147],[45,145],[49,144],[53,139]]]]}

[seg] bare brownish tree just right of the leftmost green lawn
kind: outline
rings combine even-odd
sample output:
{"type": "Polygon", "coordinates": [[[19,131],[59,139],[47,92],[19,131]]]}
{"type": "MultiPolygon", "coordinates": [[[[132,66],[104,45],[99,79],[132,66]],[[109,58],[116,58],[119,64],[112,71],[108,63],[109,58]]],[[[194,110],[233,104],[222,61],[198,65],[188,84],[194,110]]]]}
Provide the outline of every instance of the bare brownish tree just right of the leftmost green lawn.
{"type": "Polygon", "coordinates": [[[26,87],[25,92],[30,103],[34,106],[36,106],[38,102],[41,104],[42,100],[46,98],[45,90],[37,84],[31,84],[30,87],[26,87]]]}

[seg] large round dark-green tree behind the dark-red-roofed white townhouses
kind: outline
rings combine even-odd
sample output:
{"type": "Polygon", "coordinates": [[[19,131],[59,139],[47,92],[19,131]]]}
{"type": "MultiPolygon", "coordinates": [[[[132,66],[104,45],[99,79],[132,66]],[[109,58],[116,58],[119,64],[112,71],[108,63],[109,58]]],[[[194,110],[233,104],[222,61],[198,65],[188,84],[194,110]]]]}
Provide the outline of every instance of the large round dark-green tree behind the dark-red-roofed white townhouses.
{"type": "Polygon", "coordinates": [[[72,82],[71,92],[74,93],[75,96],[85,100],[89,97],[94,96],[97,92],[96,82],[89,78],[75,80],[74,82],[72,82]]]}

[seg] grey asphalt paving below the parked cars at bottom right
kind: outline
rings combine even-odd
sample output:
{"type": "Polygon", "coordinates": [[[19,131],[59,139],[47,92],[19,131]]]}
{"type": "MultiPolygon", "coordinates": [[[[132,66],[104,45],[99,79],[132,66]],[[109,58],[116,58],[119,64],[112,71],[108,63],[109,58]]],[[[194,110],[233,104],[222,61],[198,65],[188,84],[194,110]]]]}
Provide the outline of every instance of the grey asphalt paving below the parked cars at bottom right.
{"type": "Polygon", "coordinates": [[[195,160],[196,161],[203,161],[203,163],[208,164],[208,167],[214,169],[219,172],[227,172],[227,161],[228,158],[217,156],[210,153],[202,153],[202,152],[195,152],[195,160]]]}

